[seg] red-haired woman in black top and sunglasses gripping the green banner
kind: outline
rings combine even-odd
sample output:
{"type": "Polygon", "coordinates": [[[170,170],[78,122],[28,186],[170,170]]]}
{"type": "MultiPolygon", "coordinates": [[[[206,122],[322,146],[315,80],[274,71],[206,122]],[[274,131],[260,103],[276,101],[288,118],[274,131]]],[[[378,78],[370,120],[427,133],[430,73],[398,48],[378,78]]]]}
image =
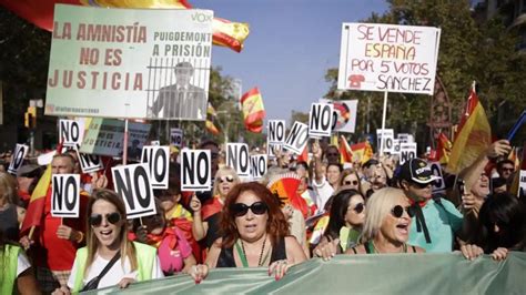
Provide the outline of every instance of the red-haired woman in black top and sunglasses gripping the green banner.
{"type": "Polygon", "coordinates": [[[269,267],[280,279],[290,266],[306,260],[280,208],[280,202],[256,182],[234,186],[221,216],[222,238],[209,251],[206,263],[193,267],[196,283],[214,267],[269,267]]]}

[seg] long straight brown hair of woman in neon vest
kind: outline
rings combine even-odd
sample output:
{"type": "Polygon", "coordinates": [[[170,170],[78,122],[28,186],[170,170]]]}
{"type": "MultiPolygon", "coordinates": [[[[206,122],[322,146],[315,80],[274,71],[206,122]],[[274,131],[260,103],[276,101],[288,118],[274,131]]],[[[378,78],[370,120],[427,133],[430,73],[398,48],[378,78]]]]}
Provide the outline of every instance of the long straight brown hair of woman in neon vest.
{"type": "MultiPolygon", "coordinates": [[[[122,225],[121,225],[121,233],[119,235],[119,238],[121,241],[121,257],[123,257],[123,255],[128,256],[128,258],[130,260],[131,269],[135,271],[138,268],[136,253],[135,253],[135,247],[133,246],[133,243],[130,243],[130,241],[128,241],[128,224],[127,224],[128,218],[127,218],[127,210],[124,206],[124,202],[113,191],[105,190],[105,189],[94,190],[93,195],[92,197],[90,197],[90,202],[88,204],[88,218],[91,216],[93,204],[99,200],[103,200],[113,204],[117,207],[117,211],[119,211],[119,214],[121,214],[122,225]]],[[[88,269],[93,263],[97,250],[99,247],[99,240],[93,234],[93,228],[89,224],[89,221],[88,221],[87,228],[88,228],[87,231],[88,261],[84,268],[84,276],[88,275],[88,269]]],[[[121,263],[122,265],[124,265],[124,260],[121,260],[121,263]]]]}

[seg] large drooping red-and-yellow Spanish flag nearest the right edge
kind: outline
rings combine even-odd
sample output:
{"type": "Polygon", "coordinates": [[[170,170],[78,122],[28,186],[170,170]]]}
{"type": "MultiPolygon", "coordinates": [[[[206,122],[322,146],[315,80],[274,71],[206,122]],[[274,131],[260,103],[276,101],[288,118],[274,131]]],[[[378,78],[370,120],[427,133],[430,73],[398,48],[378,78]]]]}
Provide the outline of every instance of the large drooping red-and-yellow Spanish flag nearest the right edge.
{"type": "Polygon", "coordinates": [[[453,142],[446,171],[457,174],[473,162],[492,144],[492,129],[486,112],[475,92],[475,82],[467,99],[455,141],[453,142]]]}

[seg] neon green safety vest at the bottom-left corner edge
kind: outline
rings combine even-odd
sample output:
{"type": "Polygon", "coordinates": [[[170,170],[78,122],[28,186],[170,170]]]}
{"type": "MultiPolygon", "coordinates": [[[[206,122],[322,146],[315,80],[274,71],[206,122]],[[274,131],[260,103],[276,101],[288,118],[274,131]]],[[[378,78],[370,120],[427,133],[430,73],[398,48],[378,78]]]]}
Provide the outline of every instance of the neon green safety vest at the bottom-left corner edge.
{"type": "Polygon", "coordinates": [[[21,247],[4,244],[3,253],[0,255],[0,294],[12,294],[14,281],[17,279],[18,255],[22,251],[21,247]]]}

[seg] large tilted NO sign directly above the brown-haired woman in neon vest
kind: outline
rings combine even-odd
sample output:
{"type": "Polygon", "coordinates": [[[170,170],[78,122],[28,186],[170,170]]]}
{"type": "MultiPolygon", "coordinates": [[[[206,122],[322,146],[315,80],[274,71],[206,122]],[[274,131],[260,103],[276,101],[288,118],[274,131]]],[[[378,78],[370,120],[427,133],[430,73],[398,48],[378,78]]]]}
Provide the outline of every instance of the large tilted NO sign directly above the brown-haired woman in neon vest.
{"type": "Polygon", "coordinates": [[[115,166],[111,169],[115,192],[127,206],[128,218],[154,215],[155,197],[145,163],[115,166]]]}

